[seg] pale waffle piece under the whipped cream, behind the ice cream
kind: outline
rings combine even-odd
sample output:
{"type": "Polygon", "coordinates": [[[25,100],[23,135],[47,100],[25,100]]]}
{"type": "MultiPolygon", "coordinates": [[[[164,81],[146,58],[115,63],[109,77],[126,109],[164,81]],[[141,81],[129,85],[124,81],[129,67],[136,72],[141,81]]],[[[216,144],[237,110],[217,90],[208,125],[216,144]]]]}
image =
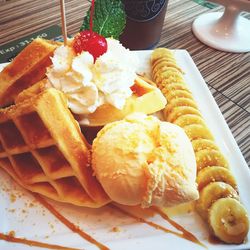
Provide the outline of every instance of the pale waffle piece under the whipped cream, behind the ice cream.
{"type": "MultiPolygon", "coordinates": [[[[94,113],[88,115],[89,126],[102,126],[113,121],[122,120],[128,114],[134,112],[152,114],[163,109],[166,105],[166,99],[161,91],[146,82],[142,77],[138,76],[135,79],[135,84],[131,89],[133,94],[126,100],[122,110],[110,104],[103,104],[94,113]]],[[[81,116],[76,116],[76,119],[81,124],[81,116]]]]}

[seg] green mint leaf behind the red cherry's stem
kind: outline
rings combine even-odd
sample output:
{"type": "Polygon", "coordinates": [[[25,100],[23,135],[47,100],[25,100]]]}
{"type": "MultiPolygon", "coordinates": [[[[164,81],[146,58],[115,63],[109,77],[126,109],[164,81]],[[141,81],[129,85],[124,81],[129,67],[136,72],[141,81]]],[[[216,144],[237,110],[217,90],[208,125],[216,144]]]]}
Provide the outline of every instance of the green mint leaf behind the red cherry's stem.
{"type": "MultiPolygon", "coordinates": [[[[89,30],[90,9],[84,17],[82,30],[89,30]]],[[[93,31],[104,36],[119,39],[126,24],[126,15],[121,0],[96,0],[93,17],[93,31]]]]}

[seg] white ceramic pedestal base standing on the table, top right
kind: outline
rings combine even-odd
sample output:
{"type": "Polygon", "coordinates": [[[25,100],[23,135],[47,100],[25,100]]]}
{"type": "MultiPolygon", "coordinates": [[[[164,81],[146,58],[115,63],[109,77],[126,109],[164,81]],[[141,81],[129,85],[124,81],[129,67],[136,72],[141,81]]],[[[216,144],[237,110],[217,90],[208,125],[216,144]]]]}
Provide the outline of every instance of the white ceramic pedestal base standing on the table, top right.
{"type": "Polygon", "coordinates": [[[225,6],[224,13],[204,13],[192,25],[194,35],[203,43],[218,50],[244,53],[250,51],[250,21],[240,16],[250,11],[247,0],[210,0],[225,6]]]}

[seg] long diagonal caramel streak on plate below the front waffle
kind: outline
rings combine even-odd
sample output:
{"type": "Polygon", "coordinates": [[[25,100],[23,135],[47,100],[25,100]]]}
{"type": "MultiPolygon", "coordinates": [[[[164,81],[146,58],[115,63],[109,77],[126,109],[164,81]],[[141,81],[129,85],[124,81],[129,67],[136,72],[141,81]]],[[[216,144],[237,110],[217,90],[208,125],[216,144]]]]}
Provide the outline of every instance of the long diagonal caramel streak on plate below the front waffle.
{"type": "Polygon", "coordinates": [[[33,196],[38,200],[44,207],[46,207],[58,220],[60,220],[66,227],[68,227],[74,233],[80,235],[83,239],[87,240],[88,242],[96,245],[100,250],[109,250],[108,247],[103,245],[102,243],[98,242],[90,235],[82,231],[78,226],[70,222],[66,219],[62,214],[60,214],[51,204],[49,204],[44,198],[40,195],[33,193],[33,196]]]}

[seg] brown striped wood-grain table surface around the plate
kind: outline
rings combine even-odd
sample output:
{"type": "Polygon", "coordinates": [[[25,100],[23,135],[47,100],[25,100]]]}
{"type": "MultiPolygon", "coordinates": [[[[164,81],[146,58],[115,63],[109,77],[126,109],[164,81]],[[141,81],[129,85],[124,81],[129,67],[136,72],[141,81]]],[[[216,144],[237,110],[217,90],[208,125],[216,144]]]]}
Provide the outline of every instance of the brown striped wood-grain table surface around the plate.
{"type": "MultiPolygon", "coordinates": [[[[66,0],[69,34],[79,30],[89,5],[89,1],[66,0]]],[[[221,9],[210,10],[191,0],[170,0],[158,46],[188,50],[250,165],[250,53],[214,50],[199,42],[191,31],[199,14],[221,9]]],[[[54,24],[60,24],[59,0],[0,3],[0,45],[54,24]]]]}

